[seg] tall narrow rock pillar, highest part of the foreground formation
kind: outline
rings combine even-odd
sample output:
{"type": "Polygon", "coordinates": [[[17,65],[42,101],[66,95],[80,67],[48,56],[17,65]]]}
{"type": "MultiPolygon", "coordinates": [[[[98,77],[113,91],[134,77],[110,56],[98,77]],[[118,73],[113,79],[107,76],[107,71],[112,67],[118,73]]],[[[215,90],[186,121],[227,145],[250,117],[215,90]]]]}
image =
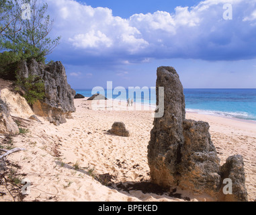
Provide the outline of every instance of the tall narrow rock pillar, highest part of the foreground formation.
{"type": "MultiPolygon", "coordinates": [[[[179,75],[173,67],[157,69],[157,88],[165,87],[164,116],[155,118],[148,144],[148,165],[153,183],[163,187],[177,185],[180,173],[183,120],[185,120],[185,97],[179,75]]],[[[157,101],[159,93],[157,93],[157,101]]],[[[158,104],[157,104],[158,105],[158,104]]]]}

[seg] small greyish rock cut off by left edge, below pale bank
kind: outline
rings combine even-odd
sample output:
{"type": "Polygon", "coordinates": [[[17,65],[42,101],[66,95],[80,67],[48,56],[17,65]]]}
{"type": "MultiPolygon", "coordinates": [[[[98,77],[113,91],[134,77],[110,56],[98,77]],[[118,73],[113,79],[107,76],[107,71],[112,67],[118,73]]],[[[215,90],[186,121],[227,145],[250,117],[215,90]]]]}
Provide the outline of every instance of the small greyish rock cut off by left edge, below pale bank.
{"type": "Polygon", "coordinates": [[[13,122],[8,107],[2,99],[0,99],[0,134],[19,134],[19,128],[13,122]]]}

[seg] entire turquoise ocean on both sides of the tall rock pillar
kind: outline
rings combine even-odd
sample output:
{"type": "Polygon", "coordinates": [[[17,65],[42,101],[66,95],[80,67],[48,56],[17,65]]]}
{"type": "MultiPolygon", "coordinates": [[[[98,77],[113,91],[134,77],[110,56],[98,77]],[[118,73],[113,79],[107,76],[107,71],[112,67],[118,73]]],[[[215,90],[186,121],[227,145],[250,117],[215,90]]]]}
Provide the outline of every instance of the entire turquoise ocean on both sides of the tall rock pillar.
{"type": "MultiPolygon", "coordinates": [[[[75,89],[85,97],[91,97],[91,89],[75,89]]],[[[113,99],[127,100],[154,106],[156,103],[155,89],[147,87],[128,93],[128,89],[112,95],[113,99]],[[137,92],[137,93],[136,93],[137,92]],[[142,93],[141,93],[142,92],[142,93]],[[136,96],[135,96],[136,95],[136,96]],[[140,96],[141,95],[141,96],[140,96]],[[137,101],[136,101],[137,97],[137,101]]],[[[105,90],[105,96],[107,96],[105,90]]],[[[188,112],[253,120],[256,122],[256,89],[184,89],[185,105],[188,112]]]]}

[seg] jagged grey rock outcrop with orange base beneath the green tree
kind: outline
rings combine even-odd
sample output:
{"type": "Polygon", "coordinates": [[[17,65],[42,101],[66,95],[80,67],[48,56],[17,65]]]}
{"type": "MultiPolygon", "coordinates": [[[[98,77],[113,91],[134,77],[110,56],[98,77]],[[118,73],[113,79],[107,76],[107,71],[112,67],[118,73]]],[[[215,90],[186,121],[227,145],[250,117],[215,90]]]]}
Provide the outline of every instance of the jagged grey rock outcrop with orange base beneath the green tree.
{"type": "Polygon", "coordinates": [[[19,77],[38,76],[44,80],[45,98],[34,103],[34,114],[46,118],[54,124],[67,122],[71,113],[75,112],[75,91],[67,83],[65,67],[57,61],[51,64],[23,61],[17,70],[19,77]]]}

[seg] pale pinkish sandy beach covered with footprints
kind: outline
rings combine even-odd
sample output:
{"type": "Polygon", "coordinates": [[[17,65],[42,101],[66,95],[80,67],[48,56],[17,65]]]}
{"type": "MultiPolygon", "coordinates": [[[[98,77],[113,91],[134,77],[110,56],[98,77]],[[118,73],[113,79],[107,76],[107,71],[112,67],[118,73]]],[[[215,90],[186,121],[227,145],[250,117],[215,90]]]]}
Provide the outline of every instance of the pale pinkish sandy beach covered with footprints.
{"type": "MultiPolygon", "coordinates": [[[[152,110],[127,110],[126,103],[114,102],[122,110],[93,110],[91,101],[75,99],[77,111],[67,123],[54,126],[19,119],[26,134],[13,136],[15,147],[25,151],[8,156],[19,179],[28,179],[30,187],[23,201],[205,201],[202,196],[177,190],[180,196],[165,191],[148,193],[129,188],[149,182],[147,146],[153,128],[152,110]],[[114,122],[124,122],[129,137],[110,134],[114,122]],[[107,187],[105,185],[110,185],[107,187]]],[[[248,200],[256,199],[256,124],[188,112],[187,119],[210,124],[212,141],[221,164],[230,155],[243,155],[248,200]]],[[[0,136],[3,140],[5,137],[0,136]]],[[[0,201],[19,200],[11,196],[11,187],[0,184],[0,201]]],[[[154,188],[154,187],[153,187],[154,188]]],[[[152,189],[153,190],[153,189],[152,189]]]]}

